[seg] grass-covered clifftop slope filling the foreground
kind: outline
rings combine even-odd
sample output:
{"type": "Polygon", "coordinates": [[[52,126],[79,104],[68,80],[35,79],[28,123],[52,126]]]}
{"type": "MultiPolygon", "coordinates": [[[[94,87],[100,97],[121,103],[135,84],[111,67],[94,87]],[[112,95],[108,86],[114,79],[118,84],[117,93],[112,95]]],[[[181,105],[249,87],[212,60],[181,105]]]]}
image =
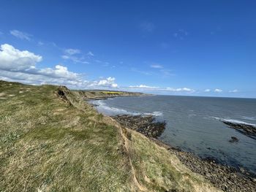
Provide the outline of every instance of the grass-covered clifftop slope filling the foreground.
{"type": "Polygon", "coordinates": [[[0,191],[217,191],[80,93],[0,81],[0,191]]]}

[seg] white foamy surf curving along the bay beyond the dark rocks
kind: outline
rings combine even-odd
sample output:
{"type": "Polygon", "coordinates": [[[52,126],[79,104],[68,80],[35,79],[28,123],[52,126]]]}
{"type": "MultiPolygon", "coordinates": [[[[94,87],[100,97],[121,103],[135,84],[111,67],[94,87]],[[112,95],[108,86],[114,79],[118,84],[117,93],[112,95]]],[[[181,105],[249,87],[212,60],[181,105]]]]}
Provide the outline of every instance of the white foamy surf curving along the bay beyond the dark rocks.
{"type": "Polygon", "coordinates": [[[127,110],[118,109],[116,107],[110,107],[103,100],[95,100],[91,101],[92,104],[95,104],[98,110],[103,110],[103,112],[110,112],[111,114],[115,115],[154,115],[154,116],[162,116],[162,112],[155,111],[155,112],[130,112],[127,110]]]}

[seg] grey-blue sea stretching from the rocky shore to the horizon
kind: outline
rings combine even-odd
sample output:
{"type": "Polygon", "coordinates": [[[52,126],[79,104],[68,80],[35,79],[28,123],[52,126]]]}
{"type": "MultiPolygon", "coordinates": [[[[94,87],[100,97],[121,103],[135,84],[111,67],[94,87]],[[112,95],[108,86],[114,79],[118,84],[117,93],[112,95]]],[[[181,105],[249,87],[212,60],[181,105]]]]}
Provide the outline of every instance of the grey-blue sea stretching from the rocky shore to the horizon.
{"type": "Polygon", "coordinates": [[[167,123],[159,137],[163,142],[201,158],[217,158],[222,164],[242,166],[256,174],[256,139],[220,121],[256,126],[256,99],[130,96],[90,102],[106,115],[154,115],[167,123]],[[233,136],[239,142],[229,142],[233,136]]]}

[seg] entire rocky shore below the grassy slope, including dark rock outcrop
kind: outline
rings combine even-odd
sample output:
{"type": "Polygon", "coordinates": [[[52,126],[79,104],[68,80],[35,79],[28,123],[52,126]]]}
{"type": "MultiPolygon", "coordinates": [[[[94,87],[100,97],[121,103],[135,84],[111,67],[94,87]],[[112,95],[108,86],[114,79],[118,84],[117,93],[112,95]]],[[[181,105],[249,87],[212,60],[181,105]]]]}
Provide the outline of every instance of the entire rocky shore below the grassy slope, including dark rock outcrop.
{"type": "Polygon", "coordinates": [[[142,115],[116,115],[112,116],[122,126],[131,128],[141,134],[146,135],[158,145],[165,147],[170,153],[175,154],[179,160],[189,169],[198,174],[202,174],[217,188],[223,191],[256,191],[256,177],[245,169],[234,169],[230,166],[219,164],[212,158],[198,158],[196,155],[170,147],[159,141],[159,137],[165,130],[165,122],[157,122],[154,116],[142,115]]]}

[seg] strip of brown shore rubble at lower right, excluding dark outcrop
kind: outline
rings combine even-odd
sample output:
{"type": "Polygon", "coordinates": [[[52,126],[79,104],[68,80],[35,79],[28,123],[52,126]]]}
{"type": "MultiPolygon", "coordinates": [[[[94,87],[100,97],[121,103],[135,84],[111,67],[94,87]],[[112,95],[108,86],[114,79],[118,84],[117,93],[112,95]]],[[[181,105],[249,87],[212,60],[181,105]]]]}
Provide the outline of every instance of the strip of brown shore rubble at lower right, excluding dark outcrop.
{"type": "Polygon", "coordinates": [[[202,174],[215,187],[221,188],[223,191],[256,191],[255,175],[246,172],[243,168],[234,169],[230,166],[219,164],[213,158],[198,158],[192,153],[170,147],[159,140],[154,139],[154,141],[161,146],[167,147],[167,150],[175,154],[192,172],[202,174]]]}

